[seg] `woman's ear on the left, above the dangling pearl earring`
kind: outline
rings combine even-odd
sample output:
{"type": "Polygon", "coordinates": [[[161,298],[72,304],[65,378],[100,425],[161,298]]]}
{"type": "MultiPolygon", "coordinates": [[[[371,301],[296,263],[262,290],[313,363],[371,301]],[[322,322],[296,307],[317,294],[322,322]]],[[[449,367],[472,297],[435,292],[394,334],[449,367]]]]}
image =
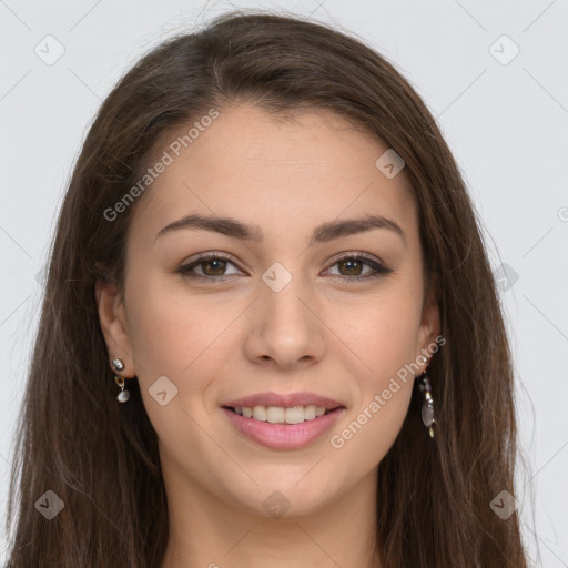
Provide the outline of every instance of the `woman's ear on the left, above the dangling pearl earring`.
{"type": "Polygon", "coordinates": [[[109,363],[116,357],[121,358],[124,362],[124,371],[121,371],[121,376],[132,378],[136,373],[122,294],[116,284],[97,278],[94,295],[99,323],[111,357],[109,363]]]}

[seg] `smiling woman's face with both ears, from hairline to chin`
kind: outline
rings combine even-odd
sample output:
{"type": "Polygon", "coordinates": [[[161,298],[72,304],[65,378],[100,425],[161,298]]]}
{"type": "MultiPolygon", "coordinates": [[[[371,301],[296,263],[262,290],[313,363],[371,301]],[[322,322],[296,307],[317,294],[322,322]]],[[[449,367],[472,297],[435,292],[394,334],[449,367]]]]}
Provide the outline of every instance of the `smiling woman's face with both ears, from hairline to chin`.
{"type": "Polygon", "coordinates": [[[326,111],[283,122],[220,109],[179,156],[164,149],[173,162],[129,229],[124,295],[99,284],[98,301],[111,358],[140,383],[166,487],[262,516],[271,499],[288,515],[322,509],[373,478],[439,331],[404,170],[387,178],[375,165],[387,146],[326,111]],[[240,225],[161,233],[187,215],[240,225]],[[331,229],[371,216],[388,221],[331,229]],[[223,408],[263,393],[339,408],[297,425],[223,408]]]}

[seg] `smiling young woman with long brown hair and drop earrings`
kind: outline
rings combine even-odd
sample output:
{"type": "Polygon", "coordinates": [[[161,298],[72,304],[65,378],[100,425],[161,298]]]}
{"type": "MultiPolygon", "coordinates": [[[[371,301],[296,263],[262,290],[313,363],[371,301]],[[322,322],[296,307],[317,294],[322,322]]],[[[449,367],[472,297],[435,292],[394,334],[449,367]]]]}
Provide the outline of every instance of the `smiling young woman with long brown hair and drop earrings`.
{"type": "Polygon", "coordinates": [[[418,94],[343,33],[225,14],[144,57],[84,142],[10,566],[524,567],[513,392],[418,94]]]}

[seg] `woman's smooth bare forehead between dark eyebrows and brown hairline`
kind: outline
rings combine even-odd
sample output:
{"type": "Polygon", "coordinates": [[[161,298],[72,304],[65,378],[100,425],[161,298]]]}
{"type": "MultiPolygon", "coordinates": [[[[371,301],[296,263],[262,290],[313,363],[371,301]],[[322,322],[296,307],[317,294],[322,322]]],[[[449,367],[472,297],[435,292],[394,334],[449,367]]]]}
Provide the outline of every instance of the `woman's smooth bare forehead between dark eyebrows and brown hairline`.
{"type": "MultiPolygon", "coordinates": [[[[197,121],[199,122],[199,121],[197,121]]],[[[388,150],[329,111],[283,120],[253,105],[219,109],[209,125],[164,136],[169,155],[136,209],[132,231],[152,233],[190,213],[239,217],[270,239],[341,217],[377,214],[417,237],[417,212],[404,170],[386,178],[376,166],[388,150]],[[186,136],[185,145],[180,141],[186,136]],[[178,154],[172,149],[179,149],[178,154]]],[[[306,234],[307,234],[306,229],[306,234]]]]}

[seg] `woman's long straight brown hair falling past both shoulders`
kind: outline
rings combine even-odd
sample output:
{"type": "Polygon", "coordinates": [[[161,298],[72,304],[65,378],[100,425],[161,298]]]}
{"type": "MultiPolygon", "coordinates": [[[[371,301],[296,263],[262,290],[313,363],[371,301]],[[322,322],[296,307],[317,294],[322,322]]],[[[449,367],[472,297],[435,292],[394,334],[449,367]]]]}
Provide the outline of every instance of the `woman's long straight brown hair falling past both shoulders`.
{"type": "Polygon", "coordinates": [[[514,373],[458,166],[423,100],[382,55],[327,26],[258,11],[225,13],[162,42],[118,82],[89,130],[51,245],[18,422],[10,567],[155,568],[163,558],[169,524],[156,434],[138,382],[128,405],[116,402],[94,294],[97,278],[123,282],[138,202],[113,222],[104,212],[143,176],[165,134],[239,101],[275,115],[334,111],[406,163],[446,344],[428,367],[435,439],[415,393],[378,466],[383,567],[526,567],[517,514],[501,519],[490,507],[500,491],[515,496],[514,373]],[[49,503],[48,490],[64,504],[52,520],[34,506],[49,503]]]}

